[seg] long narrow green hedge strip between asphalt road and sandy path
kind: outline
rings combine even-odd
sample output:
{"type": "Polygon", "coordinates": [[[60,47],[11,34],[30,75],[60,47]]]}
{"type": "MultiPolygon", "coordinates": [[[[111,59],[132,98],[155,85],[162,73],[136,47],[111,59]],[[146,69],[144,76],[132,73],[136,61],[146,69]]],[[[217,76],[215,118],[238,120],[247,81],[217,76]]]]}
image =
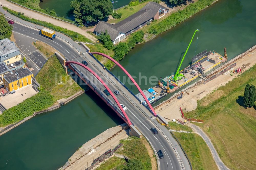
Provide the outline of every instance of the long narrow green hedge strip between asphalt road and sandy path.
{"type": "Polygon", "coordinates": [[[61,32],[61,33],[65,34],[65,35],[67,35],[68,37],[70,37],[74,41],[90,42],[90,43],[92,43],[91,40],[89,40],[88,38],[84,37],[82,34],[79,34],[77,32],[74,32],[74,31],[68,30],[66,28],[59,27],[59,26],[55,26],[55,25],[53,25],[53,24],[51,24],[49,22],[40,21],[40,20],[37,20],[37,19],[34,19],[34,18],[26,17],[22,13],[18,13],[16,11],[13,11],[13,10],[11,10],[9,8],[6,8],[6,7],[3,7],[3,9],[5,9],[8,13],[10,13],[10,14],[12,14],[12,15],[20,18],[20,19],[23,19],[25,21],[32,22],[34,24],[41,25],[41,26],[50,28],[52,30],[61,32]]]}

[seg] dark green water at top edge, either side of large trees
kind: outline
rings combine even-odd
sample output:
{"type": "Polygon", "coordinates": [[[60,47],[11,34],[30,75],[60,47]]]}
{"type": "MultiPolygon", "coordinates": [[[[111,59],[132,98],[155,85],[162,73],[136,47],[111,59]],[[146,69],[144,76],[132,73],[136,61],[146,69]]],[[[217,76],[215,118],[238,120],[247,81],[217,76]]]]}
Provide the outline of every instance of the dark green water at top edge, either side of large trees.
{"type": "MultiPolygon", "coordinates": [[[[45,9],[46,7],[48,7],[50,10],[54,9],[58,16],[74,20],[73,9],[70,8],[71,1],[72,0],[43,0],[43,2],[39,3],[39,6],[42,9],[45,9]]],[[[114,9],[125,6],[130,2],[130,0],[116,1],[114,1],[114,9]]]]}

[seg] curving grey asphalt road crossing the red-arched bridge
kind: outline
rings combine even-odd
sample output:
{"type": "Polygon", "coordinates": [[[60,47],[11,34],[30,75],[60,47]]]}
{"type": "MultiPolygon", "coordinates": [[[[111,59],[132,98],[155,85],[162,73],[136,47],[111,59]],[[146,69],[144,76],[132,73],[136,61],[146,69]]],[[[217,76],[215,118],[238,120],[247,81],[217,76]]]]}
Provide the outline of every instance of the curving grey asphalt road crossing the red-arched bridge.
{"type": "MultiPolygon", "coordinates": [[[[23,34],[25,33],[30,38],[37,39],[37,40],[47,43],[48,45],[54,47],[57,51],[62,53],[68,60],[73,60],[73,61],[77,61],[77,62],[82,62],[83,60],[85,60],[70,45],[68,45],[67,43],[63,42],[62,40],[60,40],[58,38],[55,38],[54,40],[50,40],[50,39],[47,39],[47,38],[39,35],[38,30],[29,28],[29,27],[26,27],[26,26],[23,26],[20,24],[16,24],[16,23],[13,26],[15,26],[13,29],[14,32],[23,33],[23,34]]],[[[21,42],[22,42],[22,39],[21,39],[21,42]]],[[[83,47],[79,47],[79,48],[81,48],[81,51],[86,52],[83,49],[83,47]]],[[[91,68],[93,71],[97,72],[98,75],[105,81],[105,83],[108,85],[108,87],[112,91],[116,90],[116,87],[114,86],[113,83],[111,83],[109,80],[107,80],[106,77],[109,77],[112,81],[114,81],[114,83],[116,85],[118,85],[118,87],[123,91],[123,93],[121,93],[120,95],[118,95],[116,97],[120,101],[120,103],[123,103],[127,107],[127,110],[125,112],[128,115],[128,117],[130,118],[131,122],[133,122],[134,126],[137,127],[141,131],[141,133],[150,141],[155,152],[157,152],[158,150],[163,151],[163,153],[164,153],[163,159],[159,159],[158,156],[156,155],[158,158],[158,162],[160,164],[160,165],[158,165],[159,169],[164,169],[164,170],[166,170],[166,169],[173,169],[173,170],[182,169],[181,165],[179,163],[178,157],[176,156],[176,153],[174,152],[174,150],[172,149],[172,147],[170,146],[168,141],[165,139],[163,134],[158,133],[157,135],[154,135],[150,131],[151,127],[154,127],[153,124],[142,113],[140,113],[138,111],[137,107],[134,104],[132,104],[125,97],[125,94],[128,95],[131,100],[137,102],[138,106],[146,114],[151,115],[151,113],[143,105],[140,105],[138,100],[133,95],[131,95],[119,82],[117,82],[115,80],[115,78],[113,78],[106,70],[104,70],[102,68],[102,66],[94,60],[94,58],[92,58],[87,53],[84,53],[84,54],[89,58],[89,60],[91,60],[96,65],[96,66],[92,66],[89,63],[88,67],[91,68]],[[103,74],[99,74],[99,70],[101,70],[103,72],[103,74]]],[[[83,68],[79,68],[79,69],[81,69],[83,74],[86,75],[85,69],[83,69],[83,68]]],[[[94,81],[95,81],[95,78],[91,77],[91,79],[94,79],[94,81]]],[[[99,89],[101,89],[101,91],[103,92],[103,90],[104,90],[103,85],[100,85],[100,83],[97,83],[96,86],[99,89]]],[[[109,96],[108,96],[108,98],[114,103],[113,98],[110,98],[109,96]]],[[[154,121],[156,122],[155,119],[154,119],[154,121]]],[[[170,135],[170,133],[168,132],[168,130],[165,127],[161,126],[160,124],[158,124],[158,126],[165,132],[165,134],[173,142],[174,145],[177,144],[177,142],[172,138],[172,136],[170,135]]],[[[184,156],[183,152],[181,151],[180,147],[178,147],[178,145],[177,145],[177,150],[179,152],[179,155],[182,157],[185,168],[190,169],[188,161],[187,161],[186,157],[184,156]]]]}

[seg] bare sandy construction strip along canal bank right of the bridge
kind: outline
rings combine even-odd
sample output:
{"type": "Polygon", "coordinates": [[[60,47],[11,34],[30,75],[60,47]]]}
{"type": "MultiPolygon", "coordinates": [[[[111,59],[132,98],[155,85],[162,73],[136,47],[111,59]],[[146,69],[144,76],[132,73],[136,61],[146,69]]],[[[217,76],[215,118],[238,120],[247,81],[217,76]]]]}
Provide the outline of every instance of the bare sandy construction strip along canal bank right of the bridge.
{"type": "MultiPolygon", "coordinates": [[[[241,67],[242,72],[249,69],[256,63],[256,50],[248,53],[241,59],[237,61],[237,66],[235,68],[241,67]]],[[[186,91],[183,94],[183,98],[173,99],[169,103],[166,103],[162,107],[156,109],[156,113],[160,114],[163,117],[172,119],[180,119],[181,113],[179,107],[182,108],[183,111],[192,111],[197,107],[197,100],[202,99],[207,94],[211,93],[213,90],[217,89],[220,86],[224,86],[226,83],[234,79],[238,74],[234,74],[233,76],[220,75],[219,77],[207,82],[206,84],[200,84],[190,90],[186,91]],[[204,92],[203,92],[204,91],[204,92]],[[203,92],[203,93],[201,93],[203,92]],[[187,94],[189,93],[189,94],[187,94]],[[201,94],[199,94],[201,93],[201,94]],[[199,94],[199,95],[198,95],[199,94]]]]}

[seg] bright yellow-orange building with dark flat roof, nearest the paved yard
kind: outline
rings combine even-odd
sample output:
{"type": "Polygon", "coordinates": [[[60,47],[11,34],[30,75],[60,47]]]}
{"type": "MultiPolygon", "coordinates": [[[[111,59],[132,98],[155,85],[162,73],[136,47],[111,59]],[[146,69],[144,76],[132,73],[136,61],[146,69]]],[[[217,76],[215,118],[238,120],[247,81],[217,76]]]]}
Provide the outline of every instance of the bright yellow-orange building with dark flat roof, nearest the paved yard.
{"type": "Polygon", "coordinates": [[[33,73],[27,68],[19,68],[15,72],[4,75],[4,88],[7,91],[18,90],[32,84],[33,73]]]}

